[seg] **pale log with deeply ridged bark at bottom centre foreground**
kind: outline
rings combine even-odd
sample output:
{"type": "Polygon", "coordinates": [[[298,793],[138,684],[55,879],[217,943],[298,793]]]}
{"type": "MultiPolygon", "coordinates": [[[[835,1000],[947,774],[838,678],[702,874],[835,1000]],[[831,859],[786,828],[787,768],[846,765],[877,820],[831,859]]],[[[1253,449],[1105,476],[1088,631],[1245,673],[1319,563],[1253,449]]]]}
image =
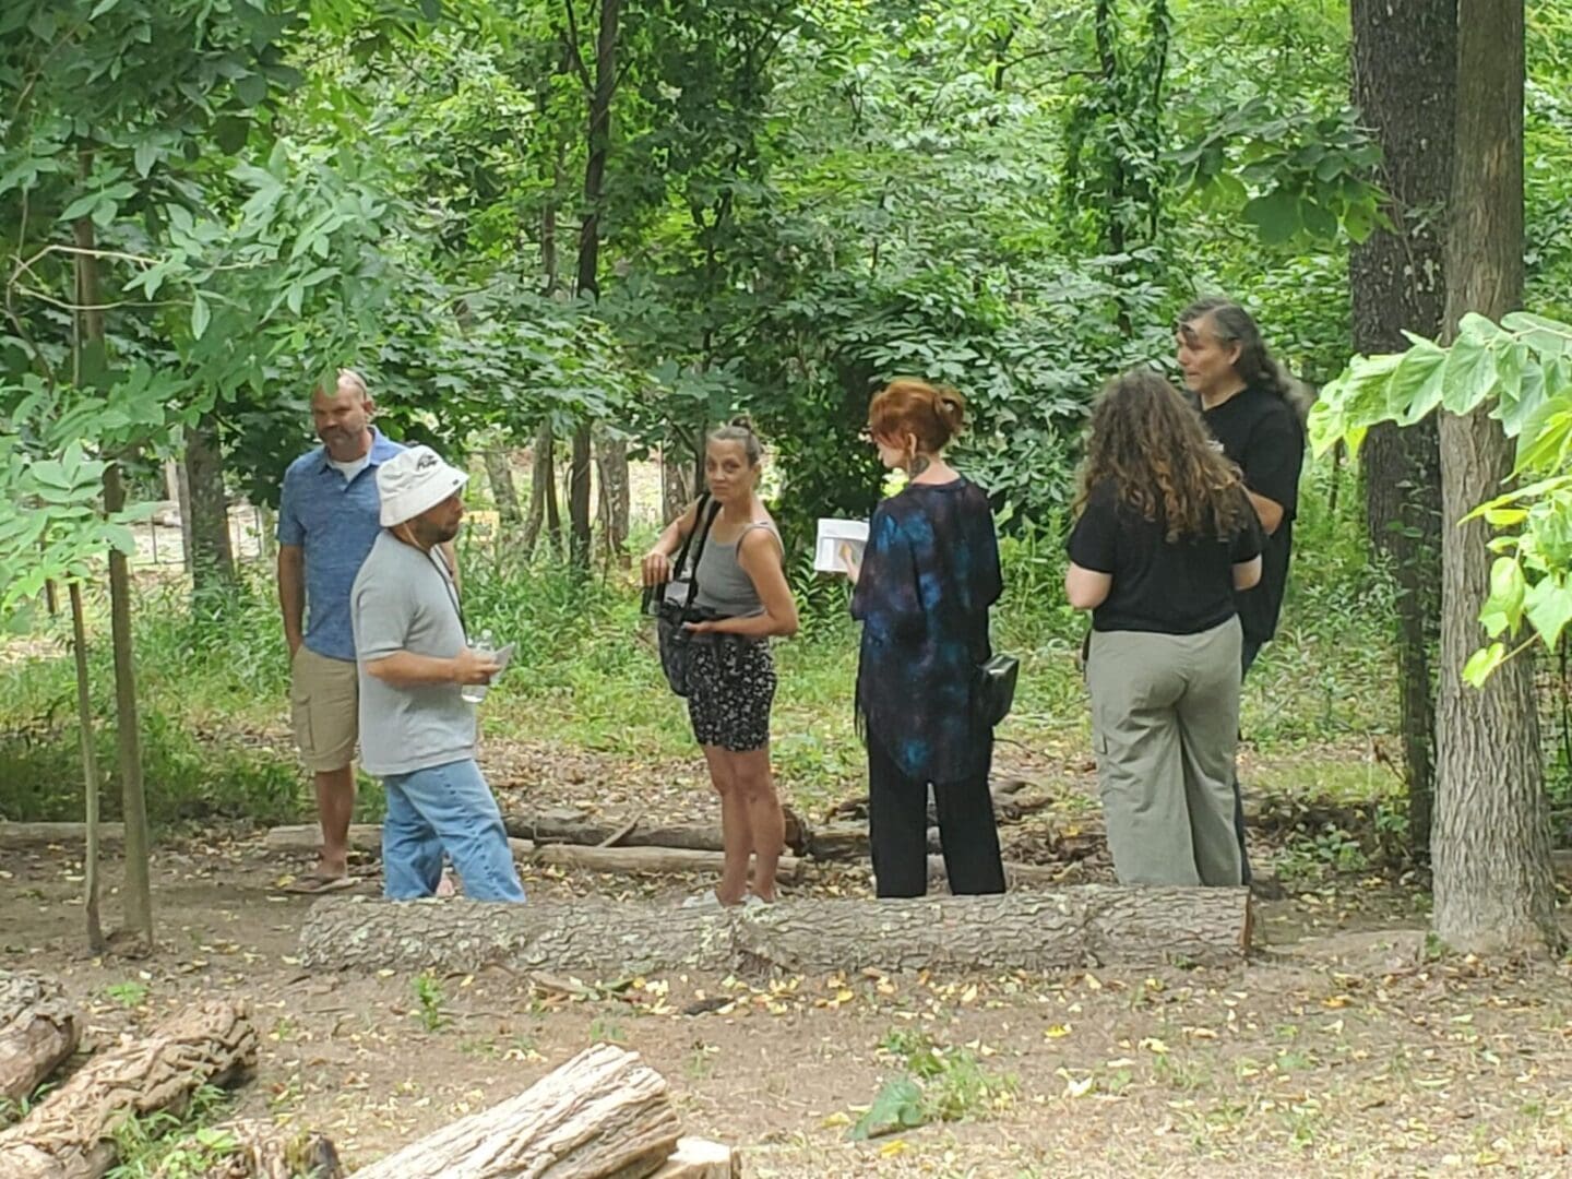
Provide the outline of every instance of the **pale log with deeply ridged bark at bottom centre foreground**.
{"type": "Polygon", "coordinates": [[[445,1126],[355,1179],[641,1179],[681,1137],[665,1078],[596,1044],[517,1097],[445,1126]]]}

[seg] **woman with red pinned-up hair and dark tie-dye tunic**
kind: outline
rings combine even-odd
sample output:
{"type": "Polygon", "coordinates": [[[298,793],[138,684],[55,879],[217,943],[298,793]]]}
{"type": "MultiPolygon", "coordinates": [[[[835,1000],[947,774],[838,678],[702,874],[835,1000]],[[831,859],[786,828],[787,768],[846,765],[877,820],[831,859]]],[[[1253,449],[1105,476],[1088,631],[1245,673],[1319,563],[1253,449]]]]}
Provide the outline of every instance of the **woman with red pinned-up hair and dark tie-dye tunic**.
{"type": "Polygon", "coordinates": [[[847,560],[863,623],[857,714],[879,896],[927,891],[929,786],[949,890],[1005,891],[987,786],[994,733],[976,700],[1003,585],[987,495],[943,457],[964,417],[959,393],[921,380],[891,382],[868,409],[880,461],[909,476],[874,511],[861,564],[847,560]]]}

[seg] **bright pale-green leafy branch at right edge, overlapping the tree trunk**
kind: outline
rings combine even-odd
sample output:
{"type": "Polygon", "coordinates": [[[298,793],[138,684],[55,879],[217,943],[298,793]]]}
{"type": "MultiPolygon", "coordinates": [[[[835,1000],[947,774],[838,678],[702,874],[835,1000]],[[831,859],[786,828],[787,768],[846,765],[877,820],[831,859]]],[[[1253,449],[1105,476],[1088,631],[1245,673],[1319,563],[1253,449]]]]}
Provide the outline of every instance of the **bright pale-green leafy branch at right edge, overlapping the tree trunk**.
{"type": "Polygon", "coordinates": [[[1497,530],[1479,616],[1493,641],[1464,667],[1478,685],[1517,651],[1536,643],[1555,649],[1572,621],[1572,476],[1564,473],[1572,456],[1572,327],[1526,311],[1500,325],[1467,314],[1449,347],[1410,341],[1407,352],[1355,357],[1313,410],[1311,443],[1317,454],[1339,439],[1357,446],[1379,421],[1407,424],[1437,409],[1486,409],[1517,442],[1515,486],[1467,517],[1497,530]]]}

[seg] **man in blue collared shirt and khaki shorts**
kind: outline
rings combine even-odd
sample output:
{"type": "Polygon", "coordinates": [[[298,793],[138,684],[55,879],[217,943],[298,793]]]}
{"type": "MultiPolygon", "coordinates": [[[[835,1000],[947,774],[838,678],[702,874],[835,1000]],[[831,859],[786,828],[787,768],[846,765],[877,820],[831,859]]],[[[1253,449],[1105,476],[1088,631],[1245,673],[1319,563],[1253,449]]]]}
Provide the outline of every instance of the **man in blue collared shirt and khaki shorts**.
{"type": "Polygon", "coordinates": [[[340,369],[311,395],[321,446],[285,472],[278,505],[278,602],[289,643],[289,712],[296,745],[316,781],[322,850],[294,891],[344,888],[355,811],[360,692],[349,590],[382,530],[377,467],[404,450],[371,424],[366,382],[340,369]]]}

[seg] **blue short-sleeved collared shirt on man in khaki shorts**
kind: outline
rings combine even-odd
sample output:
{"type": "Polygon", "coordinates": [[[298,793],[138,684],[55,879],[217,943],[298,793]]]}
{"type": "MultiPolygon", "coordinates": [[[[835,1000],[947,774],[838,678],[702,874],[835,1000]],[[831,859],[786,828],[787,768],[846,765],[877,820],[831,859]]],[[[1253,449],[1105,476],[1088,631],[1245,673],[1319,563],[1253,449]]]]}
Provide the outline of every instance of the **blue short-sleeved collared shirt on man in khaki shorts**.
{"type": "Polygon", "coordinates": [[[278,501],[278,544],[305,550],[305,645],[327,659],[354,660],[349,590],[382,531],[377,467],[404,450],[371,428],[371,454],[355,478],[318,446],[289,464],[278,501]]]}

